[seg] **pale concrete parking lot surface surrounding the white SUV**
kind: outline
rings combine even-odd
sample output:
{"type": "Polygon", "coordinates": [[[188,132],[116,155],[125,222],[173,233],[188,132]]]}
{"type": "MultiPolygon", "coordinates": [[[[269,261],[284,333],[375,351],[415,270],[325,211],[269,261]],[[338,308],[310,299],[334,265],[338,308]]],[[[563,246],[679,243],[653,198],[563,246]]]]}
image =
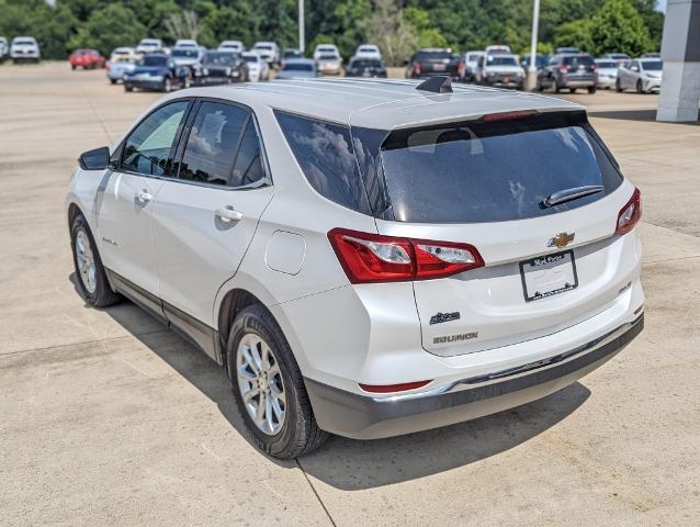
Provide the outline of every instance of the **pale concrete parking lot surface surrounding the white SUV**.
{"type": "Polygon", "coordinates": [[[611,362],[495,416],[280,462],[210,359],[76,292],[76,158],[158,97],[0,67],[0,525],[698,525],[699,125],[654,122],[656,96],[565,96],[643,193],[646,328],[611,362]]]}

